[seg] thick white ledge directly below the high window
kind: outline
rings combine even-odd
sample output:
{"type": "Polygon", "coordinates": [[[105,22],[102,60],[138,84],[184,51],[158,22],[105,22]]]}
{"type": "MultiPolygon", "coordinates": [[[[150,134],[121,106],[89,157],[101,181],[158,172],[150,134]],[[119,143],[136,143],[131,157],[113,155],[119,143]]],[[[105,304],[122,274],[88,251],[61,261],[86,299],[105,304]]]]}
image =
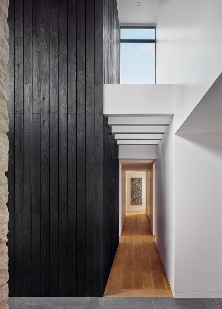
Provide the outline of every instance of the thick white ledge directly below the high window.
{"type": "Polygon", "coordinates": [[[173,116],[174,84],[104,84],[104,116],[173,116]]]}

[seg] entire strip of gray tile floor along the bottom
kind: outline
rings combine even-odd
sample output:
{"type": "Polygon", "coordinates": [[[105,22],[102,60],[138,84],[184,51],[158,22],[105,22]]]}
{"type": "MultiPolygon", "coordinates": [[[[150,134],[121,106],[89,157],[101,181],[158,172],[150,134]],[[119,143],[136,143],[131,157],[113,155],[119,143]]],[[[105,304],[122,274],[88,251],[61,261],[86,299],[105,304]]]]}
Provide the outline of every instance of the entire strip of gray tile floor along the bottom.
{"type": "Polygon", "coordinates": [[[222,309],[222,298],[10,297],[10,309],[222,309]]]}

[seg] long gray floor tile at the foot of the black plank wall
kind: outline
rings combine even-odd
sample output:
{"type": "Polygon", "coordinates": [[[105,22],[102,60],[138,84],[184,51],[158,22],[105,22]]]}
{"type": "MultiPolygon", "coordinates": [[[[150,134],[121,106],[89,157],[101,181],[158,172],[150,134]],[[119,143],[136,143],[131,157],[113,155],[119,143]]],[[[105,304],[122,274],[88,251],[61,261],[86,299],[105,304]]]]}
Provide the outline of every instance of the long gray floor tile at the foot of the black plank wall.
{"type": "Polygon", "coordinates": [[[23,305],[82,305],[86,306],[89,297],[29,297],[23,305]]]}

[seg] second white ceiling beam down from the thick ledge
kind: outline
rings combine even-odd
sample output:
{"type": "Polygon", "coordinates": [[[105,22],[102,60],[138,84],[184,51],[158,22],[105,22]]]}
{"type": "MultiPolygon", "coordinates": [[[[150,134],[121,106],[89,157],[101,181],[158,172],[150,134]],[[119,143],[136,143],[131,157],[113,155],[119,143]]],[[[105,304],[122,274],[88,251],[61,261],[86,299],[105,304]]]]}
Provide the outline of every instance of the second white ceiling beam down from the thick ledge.
{"type": "Polygon", "coordinates": [[[112,133],[164,133],[163,125],[114,125],[112,126],[112,133]]]}

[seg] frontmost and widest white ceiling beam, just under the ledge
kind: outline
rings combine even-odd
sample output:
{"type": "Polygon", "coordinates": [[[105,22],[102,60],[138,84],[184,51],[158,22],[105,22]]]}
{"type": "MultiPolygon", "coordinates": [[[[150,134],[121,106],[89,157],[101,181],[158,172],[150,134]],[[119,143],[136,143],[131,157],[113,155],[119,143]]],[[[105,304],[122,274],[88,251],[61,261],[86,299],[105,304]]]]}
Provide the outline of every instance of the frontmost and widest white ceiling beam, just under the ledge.
{"type": "Polygon", "coordinates": [[[169,125],[169,117],[108,117],[108,125],[169,125]]]}

